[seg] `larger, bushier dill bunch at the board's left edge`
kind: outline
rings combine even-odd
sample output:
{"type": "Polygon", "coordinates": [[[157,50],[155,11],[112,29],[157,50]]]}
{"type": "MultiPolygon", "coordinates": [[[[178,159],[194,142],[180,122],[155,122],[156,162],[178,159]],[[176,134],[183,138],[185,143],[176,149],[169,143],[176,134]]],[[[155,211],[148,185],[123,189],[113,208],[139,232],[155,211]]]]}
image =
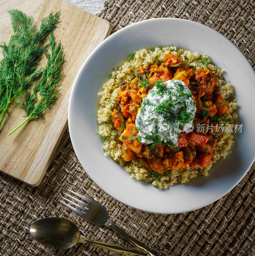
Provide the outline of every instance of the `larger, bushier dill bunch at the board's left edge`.
{"type": "MultiPolygon", "coordinates": [[[[42,75],[37,70],[41,56],[49,48],[44,39],[57,27],[60,12],[51,13],[41,21],[35,30],[33,17],[17,9],[8,11],[11,17],[13,34],[8,44],[0,44],[4,58],[0,61],[0,126],[8,114],[9,105],[20,97],[42,75]]],[[[20,103],[17,100],[14,103],[20,103]]]]}

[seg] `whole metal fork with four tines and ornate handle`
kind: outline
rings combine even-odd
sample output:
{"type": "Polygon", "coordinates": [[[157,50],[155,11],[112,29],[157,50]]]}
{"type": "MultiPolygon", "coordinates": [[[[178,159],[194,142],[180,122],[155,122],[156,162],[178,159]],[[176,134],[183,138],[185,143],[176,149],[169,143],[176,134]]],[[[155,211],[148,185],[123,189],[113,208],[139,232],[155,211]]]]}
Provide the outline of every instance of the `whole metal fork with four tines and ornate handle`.
{"type": "Polygon", "coordinates": [[[154,248],[150,248],[148,247],[146,244],[144,244],[142,241],[140,241],[139,239],[135,238],[134,236],[129,235],[126,231],[124,231],[123,229],[119,228],[118,226],[116,226],[112,220],[110,220],[110,218],[108,217],[108,212],[105,209],[104,206],[102,206],[101,204],[95,202],[94,200],[82,196],[72,190],[67,189],[71,194],[78,196],[79,198],[83,199],[84,201],[86,201],[87,203],[84,203],[83,201],[77,199],[74,196],[71,196],[67,193],[64,193],[66,196],[72,198],[73,200],[75,200],[76,202],[82,204],[83,206],[85,206],[86,208],[84,208],[83,206],[80,206],[79,204],[76,204],[75,202],[65,198],[62,196],[62,199],[68,201],[70,204],[78,207],[80,210],[77,210],[76,208],[74,208],[73,206],[66,204],[62,201],[60,201],[60,203],[64,204],[65,206],[67,206],[70,210],[76,212],[77,214],[79,214],[82,218],[84,218],[85,220],[88,220],[90,223],[94,224],[94,225],[106,225],[109,228],[112,228],[114,231],[116,231],[118,234],[120,234],[121,236],[123,236],[126,240],[128,240],[131,244],[133,244],[134,246],[136,246],[140,252],[145,252],[147,253],[148,256],[170,256],[168,252],[165,251],[161,251],[161,250],[157,250],[154,248]]]}

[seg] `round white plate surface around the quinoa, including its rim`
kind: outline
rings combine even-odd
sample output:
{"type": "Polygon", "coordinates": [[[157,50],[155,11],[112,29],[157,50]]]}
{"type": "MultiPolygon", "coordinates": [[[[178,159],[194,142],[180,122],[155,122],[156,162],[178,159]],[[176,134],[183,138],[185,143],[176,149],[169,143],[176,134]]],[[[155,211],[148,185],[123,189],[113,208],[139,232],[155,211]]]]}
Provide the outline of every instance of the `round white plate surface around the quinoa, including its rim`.
{"type": "Polygon", "coordinates": [[[254,71],[242,52],[226,37],[202,24],[182,19],[144,20],[120,29],[104,40],[82,65],[72,88],[68,125],[76,155],[91,179],[116,200],[155,213],[192,211],[226,195],[243,178],[255,155],[254,71]],[[112,68],[131,53],[157,45],[171,45],[206,53],[222,68],[234,86],[239,105],[232,153],[199,176],[166,190],[131,179],[110,157],[103,156],[102,140],[96,135],[98,92],[112,68]]]}

